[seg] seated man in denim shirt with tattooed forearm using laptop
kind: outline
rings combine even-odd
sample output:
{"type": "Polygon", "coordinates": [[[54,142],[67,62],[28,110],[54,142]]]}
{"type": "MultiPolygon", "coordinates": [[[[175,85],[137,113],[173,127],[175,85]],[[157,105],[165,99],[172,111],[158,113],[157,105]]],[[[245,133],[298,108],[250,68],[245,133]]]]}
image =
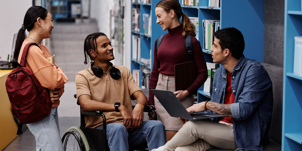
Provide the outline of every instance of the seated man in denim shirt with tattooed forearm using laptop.
{"type": "Polygon", "coordinates": [[[220,119],[181,120],[183,127],[164,146],[154,150],[263,150],[273,108],[272,83],[264,67],[243,55],[243,35],[236,28],[215,32],[211,47],[214,63],[223,66],[214,75],[210,101],[188,112],[216,112],[220,119]]]}

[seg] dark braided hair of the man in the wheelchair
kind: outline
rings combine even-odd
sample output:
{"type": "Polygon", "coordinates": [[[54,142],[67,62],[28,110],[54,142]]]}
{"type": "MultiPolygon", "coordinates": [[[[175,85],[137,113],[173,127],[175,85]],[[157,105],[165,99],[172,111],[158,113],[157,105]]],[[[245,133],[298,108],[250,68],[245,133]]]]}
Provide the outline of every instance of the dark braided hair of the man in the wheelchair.
{"type": "Polygon", "coordinates": [[[94,50],[94,51],[98,52],[98,46],[96,43],[96,39],[100,36],[106,36],[106,35],[104,33],[93,33],[86,37],[85,42],[84,42],[84,55],[85,55],[84,63],[85,64],[88,63],[88,59],[87,59],[88,56],[91,60],[90,63],[93,62],[94,59],[90,56],[89,50],[94,50]]]}

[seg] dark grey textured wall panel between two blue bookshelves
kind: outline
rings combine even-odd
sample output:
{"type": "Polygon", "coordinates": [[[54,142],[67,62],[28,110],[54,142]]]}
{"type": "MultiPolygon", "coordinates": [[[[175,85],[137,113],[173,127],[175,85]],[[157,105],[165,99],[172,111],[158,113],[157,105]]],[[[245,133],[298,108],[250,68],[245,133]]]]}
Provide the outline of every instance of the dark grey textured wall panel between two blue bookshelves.
{"type": "Polygon", "coordinates": [[[283,67],[284,0],[264,1],[264,62],[283,67]]]}

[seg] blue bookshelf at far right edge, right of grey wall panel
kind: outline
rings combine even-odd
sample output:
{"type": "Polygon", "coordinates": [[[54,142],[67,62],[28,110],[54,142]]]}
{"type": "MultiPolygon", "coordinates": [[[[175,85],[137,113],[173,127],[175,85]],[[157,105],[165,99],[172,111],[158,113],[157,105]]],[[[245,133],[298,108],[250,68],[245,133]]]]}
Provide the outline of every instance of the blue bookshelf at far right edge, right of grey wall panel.
{"type": "Polygon", "coordinates": [[[282,150],[302,150],[302,76],[293,73],[294,37],[302,36],[300,0],[284,3],[282,150]]]}

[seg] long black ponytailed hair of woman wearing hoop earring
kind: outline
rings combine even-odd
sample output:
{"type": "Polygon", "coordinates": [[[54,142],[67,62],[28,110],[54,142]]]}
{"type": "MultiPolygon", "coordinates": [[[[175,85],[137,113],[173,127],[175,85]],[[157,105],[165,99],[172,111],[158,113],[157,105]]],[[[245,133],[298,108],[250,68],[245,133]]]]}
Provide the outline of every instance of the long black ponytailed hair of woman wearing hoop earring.
{"type": "Polygon", "coordinates": [[[14,50],[15,60],[18,60],[20,49],[25,39],[25,30],[27,29],[27,31],[31,31],[34,28],[34,23],[37,21],[37,18],[40,17],[41,19],[45,19],[47,13],[48,13],[47,9],[41,6],[32,6],[28,8],[24,16],[23,25],[18,31],[15,50],[14,50]]]}

